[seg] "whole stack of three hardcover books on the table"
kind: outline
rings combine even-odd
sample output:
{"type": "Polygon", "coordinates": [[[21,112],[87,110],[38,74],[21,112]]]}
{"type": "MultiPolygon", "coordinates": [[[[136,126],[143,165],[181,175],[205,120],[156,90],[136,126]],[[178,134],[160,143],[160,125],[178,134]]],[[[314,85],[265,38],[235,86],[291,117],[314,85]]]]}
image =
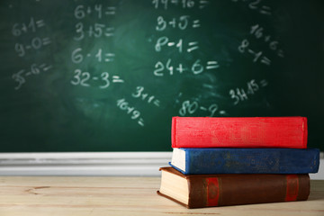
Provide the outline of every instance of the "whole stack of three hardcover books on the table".
{"type": "Polygon", "coordinates": [[[187,208],[305,201],[320,150],[304,117],[173,117],[158,194],[187,208]]]}

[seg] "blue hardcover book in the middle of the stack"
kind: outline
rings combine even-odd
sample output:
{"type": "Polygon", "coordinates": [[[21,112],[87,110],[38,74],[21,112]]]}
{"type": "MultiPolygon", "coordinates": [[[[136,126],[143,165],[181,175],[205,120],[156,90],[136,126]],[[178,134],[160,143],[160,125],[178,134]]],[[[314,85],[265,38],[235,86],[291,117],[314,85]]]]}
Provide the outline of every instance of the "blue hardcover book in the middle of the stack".
{"type": "Polygon", "coordinates": [[[171,166],[192,174],[317,173],[317,148],[174,148],[171,166]]]}

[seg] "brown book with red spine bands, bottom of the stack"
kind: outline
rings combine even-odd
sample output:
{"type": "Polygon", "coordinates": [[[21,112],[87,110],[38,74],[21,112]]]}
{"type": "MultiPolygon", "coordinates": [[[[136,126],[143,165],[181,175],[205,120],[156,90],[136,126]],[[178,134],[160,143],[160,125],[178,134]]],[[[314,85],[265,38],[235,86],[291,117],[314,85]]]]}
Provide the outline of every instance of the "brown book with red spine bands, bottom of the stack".
{"type": "Polygon", "coordinates": [[[157,194],[185,207],[305,201],[310,194],[310,176],[279,174],[184,175],[162,167],[157,194]]]}

